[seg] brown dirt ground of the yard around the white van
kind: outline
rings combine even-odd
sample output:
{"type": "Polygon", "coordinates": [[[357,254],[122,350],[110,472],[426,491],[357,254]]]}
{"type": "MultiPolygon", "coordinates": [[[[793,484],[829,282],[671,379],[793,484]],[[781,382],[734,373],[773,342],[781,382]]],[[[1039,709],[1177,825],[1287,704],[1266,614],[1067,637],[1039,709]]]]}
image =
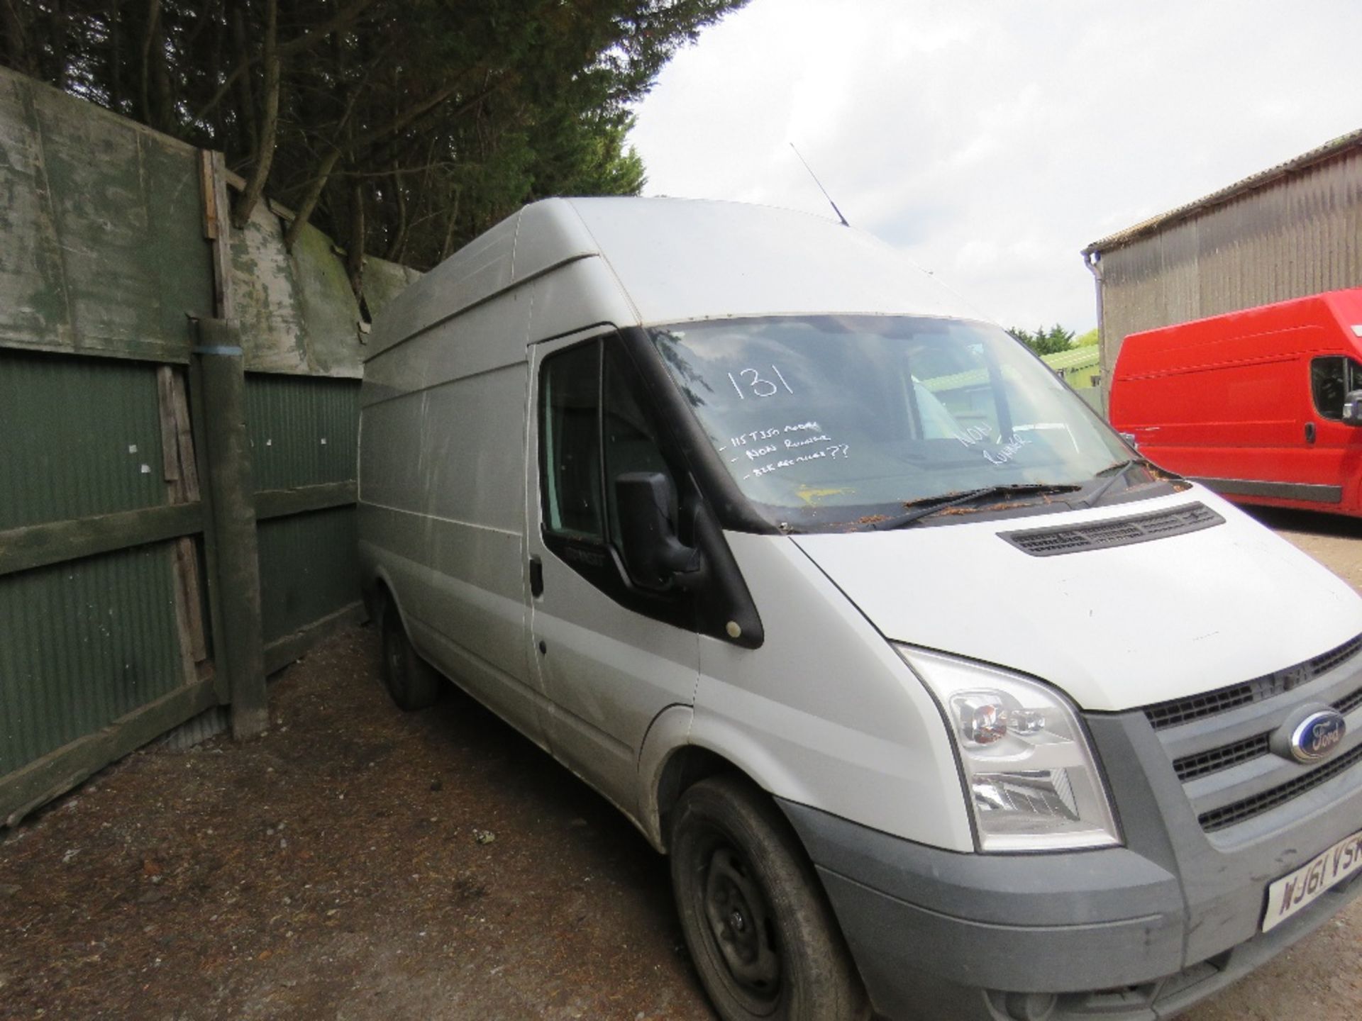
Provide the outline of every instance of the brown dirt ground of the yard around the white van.
{"type": "MultiPolygon", "coordinates": [[[[1264,515],[1362,587],[1362,523],[1264,515]]],[[[244,745],[151,747],[0,839],[3,1018],[711,1018],[667,870],[467,698],[403,715],[370,629],[244,745]]],[[[1362,1017],[1362,903],[1188,1021],[1362,1017]]]]}

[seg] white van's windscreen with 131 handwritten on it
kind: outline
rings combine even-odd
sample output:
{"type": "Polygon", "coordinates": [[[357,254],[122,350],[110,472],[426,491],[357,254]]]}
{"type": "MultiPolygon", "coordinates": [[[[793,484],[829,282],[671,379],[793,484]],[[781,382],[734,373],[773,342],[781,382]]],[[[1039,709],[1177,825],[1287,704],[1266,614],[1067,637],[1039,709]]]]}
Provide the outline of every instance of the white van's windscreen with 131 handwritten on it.
{"type": "Polygon", "coordinates": [[[771,317],[651,336],[772,523],[864,523],[949,493],[1083,485],[1133,456],[1043,362],[982,323],[771,317]]]}

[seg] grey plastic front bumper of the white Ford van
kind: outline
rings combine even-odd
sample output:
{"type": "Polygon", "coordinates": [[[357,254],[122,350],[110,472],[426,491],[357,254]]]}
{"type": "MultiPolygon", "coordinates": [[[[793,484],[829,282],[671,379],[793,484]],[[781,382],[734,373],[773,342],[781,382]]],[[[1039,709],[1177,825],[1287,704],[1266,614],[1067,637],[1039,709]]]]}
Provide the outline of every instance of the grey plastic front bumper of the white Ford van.
{"type": "Polygon", "coordinates": [[[1258,931],[1268,884],[1362,828],[1362,768],[1212,836],[1143,713],[1087,723],[1126,847],[957,854],[780,803],[881,1014],[1167,1018],[1362,894],[1354,878],[1258,931]]]}

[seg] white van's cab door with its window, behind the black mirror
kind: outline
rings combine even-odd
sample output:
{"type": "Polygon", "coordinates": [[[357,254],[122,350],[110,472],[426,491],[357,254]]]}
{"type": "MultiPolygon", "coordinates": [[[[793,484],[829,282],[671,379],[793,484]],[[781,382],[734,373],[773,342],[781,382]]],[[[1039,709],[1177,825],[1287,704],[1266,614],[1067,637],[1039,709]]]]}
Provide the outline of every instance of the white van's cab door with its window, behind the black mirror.
{"type": "Polygon", "coordinates": [[[676,478],[621,338],[531,347],[526,464],[530,658],[549,700],[554,756],[629,814],[654,717],[692,705],[699,638],[688,596],[636,589],[620,554],[612,481],[676,478]]]}

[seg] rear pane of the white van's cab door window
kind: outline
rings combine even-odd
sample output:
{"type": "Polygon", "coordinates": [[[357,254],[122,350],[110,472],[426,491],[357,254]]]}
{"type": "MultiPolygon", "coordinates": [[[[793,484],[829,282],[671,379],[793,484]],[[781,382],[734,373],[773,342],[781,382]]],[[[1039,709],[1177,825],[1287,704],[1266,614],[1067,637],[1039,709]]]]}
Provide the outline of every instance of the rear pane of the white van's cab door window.
{"type": "Polygon", "coordinates": [[[601,343],[587,342],[543,359],[539,444],[545,517],[550,531],[603,539],[601,491],[601,343]]]}

